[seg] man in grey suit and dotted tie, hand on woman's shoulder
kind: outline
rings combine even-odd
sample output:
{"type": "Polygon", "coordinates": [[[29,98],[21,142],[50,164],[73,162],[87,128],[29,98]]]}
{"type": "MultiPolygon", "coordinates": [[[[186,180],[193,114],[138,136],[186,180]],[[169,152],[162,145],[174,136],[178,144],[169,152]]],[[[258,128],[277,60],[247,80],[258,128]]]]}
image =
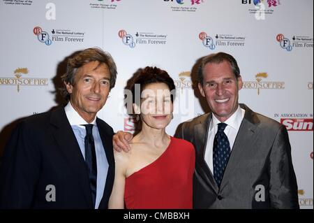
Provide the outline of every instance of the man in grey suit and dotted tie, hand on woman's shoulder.
{"type": "MultiPolygon", "coordinates": [[[[204,57],[198,87],[211,113],[180,124],[175,135],[195,147],[194,208],[299,208],[287,129],[239,105],[234,57],[204,57]]],[[[119,132],[114,146],[127,150],[129,138],[119,132]]]]}

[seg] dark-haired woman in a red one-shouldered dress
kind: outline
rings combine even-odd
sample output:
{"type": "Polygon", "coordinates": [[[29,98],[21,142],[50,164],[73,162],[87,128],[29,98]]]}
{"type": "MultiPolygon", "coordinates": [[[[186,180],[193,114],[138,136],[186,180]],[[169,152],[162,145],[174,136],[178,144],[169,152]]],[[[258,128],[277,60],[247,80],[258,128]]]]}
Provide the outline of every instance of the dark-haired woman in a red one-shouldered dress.
{"type": "Polygon", "coordinates": [[[166,71],[146,67],[135,73],[128,89],[142,128],[130,152],[114,151],[109,208],[192,208],[195,150],[165,132],[172,120],[174,81],[166,71]]]}

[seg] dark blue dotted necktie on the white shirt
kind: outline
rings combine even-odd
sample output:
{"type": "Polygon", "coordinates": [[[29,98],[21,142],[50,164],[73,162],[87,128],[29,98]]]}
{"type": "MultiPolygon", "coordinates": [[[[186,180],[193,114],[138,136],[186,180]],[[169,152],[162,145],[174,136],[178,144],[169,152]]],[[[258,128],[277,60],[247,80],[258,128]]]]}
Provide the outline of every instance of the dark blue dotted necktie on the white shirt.
{"type": "Polygon", "coordinates": [[[213,164],[214,164],[214,178],[217,182],[218,187],[220,186],[221,180],[223,179],[223,173],[230,156],[230,143],[225,135],[225,127],[227,124],[219,123],[218,131],[214,138],[213,147],[213,164]]]}

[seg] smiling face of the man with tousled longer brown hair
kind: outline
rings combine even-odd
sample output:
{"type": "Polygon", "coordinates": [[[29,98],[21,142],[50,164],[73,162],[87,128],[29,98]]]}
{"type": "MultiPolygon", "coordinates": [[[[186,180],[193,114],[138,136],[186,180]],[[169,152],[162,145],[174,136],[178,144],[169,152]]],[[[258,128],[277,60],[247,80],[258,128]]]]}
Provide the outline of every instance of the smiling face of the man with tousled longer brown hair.
{"type": "Polygon", "coordinates": [[[106,64],[89,62],[77,69],[74,85],[66,83],[70,103],[87,122],[103,108],[110,91],[110,71],[106,64]]]}

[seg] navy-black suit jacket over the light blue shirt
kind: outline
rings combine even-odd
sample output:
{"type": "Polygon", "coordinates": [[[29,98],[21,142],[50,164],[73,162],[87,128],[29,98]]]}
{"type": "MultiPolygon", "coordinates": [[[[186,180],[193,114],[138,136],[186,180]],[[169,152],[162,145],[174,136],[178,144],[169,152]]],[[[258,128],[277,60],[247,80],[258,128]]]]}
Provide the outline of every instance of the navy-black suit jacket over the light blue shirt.
{"type": "MultiPolygon", "coordinates": [[[[96,123],[109,163],[99,208],[107,208],[114,182],[114,133],[102,120],[96,123]]],[[[87,166],[64,108],[33,115],[13,132],[0,166],[1,208],[94,208],[87,166]],[[54,185],[56,201],[46,200],[52,191],[47,185],[54,185]]]]}

